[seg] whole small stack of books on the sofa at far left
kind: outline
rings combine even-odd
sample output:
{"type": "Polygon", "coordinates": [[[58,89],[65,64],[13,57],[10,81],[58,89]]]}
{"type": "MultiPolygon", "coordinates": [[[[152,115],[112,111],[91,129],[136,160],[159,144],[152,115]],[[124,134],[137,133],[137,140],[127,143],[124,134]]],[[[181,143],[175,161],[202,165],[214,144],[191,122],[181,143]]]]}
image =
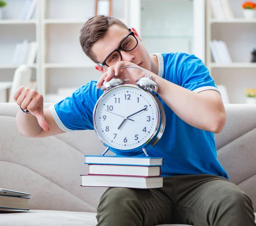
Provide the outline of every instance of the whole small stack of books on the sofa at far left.
{"type": "Polygon", "coordinates": [[[29,210],[29,193],[0,189],[0,210],[29,210]]]}

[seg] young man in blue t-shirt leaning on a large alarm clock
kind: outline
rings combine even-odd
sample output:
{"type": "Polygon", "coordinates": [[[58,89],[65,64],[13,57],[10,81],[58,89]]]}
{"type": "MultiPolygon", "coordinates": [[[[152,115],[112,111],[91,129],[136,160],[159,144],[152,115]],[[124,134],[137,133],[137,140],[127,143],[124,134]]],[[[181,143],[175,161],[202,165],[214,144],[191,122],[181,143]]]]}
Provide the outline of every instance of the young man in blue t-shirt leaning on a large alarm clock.
{"type": "Polygon", "coordinates": [[[112,17],[90,18],[81,29],[80,44],[102,77],[43,110],[43,97],[21,87],[15,100],[31,114],[17,113],[17,128],[31,137],[93,129],[93,107],[103,81],[113,76],[134,82],[141,70],[153,76],[166,112],[166,129],[148,152],[165,158],[163,188],[110,188],[98,206],[98,226],[153,226],[179,223],[197,226],[255,226],[250,198],[235,184],[216,158],[213,133],[224,127],[221,96],[209,71],[194,55],[149,55],[134,28],[112,17]]]}

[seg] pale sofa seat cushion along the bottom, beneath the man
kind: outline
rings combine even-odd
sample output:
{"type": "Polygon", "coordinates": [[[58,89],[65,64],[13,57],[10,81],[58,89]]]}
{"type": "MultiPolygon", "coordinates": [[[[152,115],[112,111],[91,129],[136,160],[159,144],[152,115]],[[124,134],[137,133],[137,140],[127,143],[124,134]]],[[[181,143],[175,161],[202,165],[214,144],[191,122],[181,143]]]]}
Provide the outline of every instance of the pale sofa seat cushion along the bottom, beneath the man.
{"type": "MultiPolygon", "coordinates": [[[[95,226],[96,213],[92,212],[70,212],[58,210],[37,210],[28,212],[8,212],[0,211],[1,225],[4,226],[95,226]]],[[[172,224],[172,226],[181,224],[172,224]]],[[[161,226],[171,226],[162,224],[161,226]]]]}

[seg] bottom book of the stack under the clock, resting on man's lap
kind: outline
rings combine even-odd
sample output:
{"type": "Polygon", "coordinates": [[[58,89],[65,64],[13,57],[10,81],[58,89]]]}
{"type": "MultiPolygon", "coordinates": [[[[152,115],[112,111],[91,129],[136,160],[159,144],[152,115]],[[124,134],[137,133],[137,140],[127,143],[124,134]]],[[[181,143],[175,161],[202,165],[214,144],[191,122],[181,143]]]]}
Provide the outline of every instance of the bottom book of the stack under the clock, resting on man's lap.
{"type": "Polygon", "coordinates": [[[81,186],[126,187],[140,189],[160,188],[163,186],[163,177],[81,175],[81,178],[81,186]]]}

